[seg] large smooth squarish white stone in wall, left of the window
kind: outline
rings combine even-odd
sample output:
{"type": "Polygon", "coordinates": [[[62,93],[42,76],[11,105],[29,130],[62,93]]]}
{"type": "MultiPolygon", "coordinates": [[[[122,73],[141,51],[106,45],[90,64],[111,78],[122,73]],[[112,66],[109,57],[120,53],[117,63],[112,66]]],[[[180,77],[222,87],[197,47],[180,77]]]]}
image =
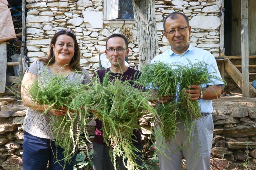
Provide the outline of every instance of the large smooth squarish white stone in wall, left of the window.
{"type": "Polygon", "coordinates": [[[103,28],[103,13],[82,11],[86,28],[103,28]]]}

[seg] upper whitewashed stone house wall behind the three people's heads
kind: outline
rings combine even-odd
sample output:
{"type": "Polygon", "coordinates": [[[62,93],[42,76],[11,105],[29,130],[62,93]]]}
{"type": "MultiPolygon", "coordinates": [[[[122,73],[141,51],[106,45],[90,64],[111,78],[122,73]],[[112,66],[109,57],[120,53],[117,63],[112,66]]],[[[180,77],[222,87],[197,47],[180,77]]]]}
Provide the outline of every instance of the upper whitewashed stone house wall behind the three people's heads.
{"type": "MultiPolygon", "coordinates": [[[[57,29],[72,29],[81,50],[81,65],[90,76],[98,69],[99,53],[104,52],[105,40],[112,33],[129,28],[129,66],[139,66],[136,28],[133,21],[103,21],[103,0],[27,0],[27,49],[30,62],[46,56],[51,37],[57,29]]],[[[160,52],[170,48],[163,35],[163,19],[174,11],[184,12],[192,27],[191,43],[219,53],[219,0],[156,0],[157,36],[160,52]]],[[[126,29],[128,30],[128,29],[126,29]]]]}

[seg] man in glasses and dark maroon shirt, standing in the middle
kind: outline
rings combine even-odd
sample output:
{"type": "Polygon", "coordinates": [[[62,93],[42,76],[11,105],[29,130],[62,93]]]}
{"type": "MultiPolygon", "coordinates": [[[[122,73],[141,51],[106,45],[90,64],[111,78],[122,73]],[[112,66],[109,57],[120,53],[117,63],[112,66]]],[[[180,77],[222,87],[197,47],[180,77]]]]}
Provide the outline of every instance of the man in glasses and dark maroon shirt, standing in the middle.
{"type": "MultiPolygon", "coordinates": [[[[107,38],[106,50],[108,60],[111,63],[111,67],[106,70],[99,70],[94,73],[94,77],[97,75],[100,82],[103,82],[103,78],[106,72],[110,72],[111,76],[109,81],[114,77],[121,79],[122,81],[129,80],[131,85],[134,85],[133,80],[137,80],[140,76],[140,72],[132,68],[125,66],[125,57],[128,56],[128,41],[124,35],[112,34],[107,38]]],[[[139,88],[135,86],[135,88],[139,88]]],[[[95,137],[93,141],[93,169],[94,170],[114,170],[114,166],[109,156],[109,148],[103,141],[102,122],[96,119],[95,137]]],[[[134,130],[133,136],[134,146],[138,150],[142,150],[142,141],[140,131],[134,130]]],[[[141,152],[134,151],[137,155],[136,163],[142,165],[141,152]]],[[[123,159],[117,158],[120,170],[127,170],[123,165],[123,159]]]]}

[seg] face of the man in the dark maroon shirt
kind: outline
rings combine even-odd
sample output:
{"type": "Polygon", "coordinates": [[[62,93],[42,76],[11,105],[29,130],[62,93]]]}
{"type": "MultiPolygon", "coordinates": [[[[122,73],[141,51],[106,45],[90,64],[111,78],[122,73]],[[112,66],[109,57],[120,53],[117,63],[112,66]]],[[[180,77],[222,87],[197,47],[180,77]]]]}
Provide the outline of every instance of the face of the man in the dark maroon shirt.
{"type": "Polygon", "coordinates": [[[107,50],[105,50],[105,53],[111,63],[111,67],[122,67],[125,65],[125,57],[128,56],[129,49],[126,49],[125,41],[123,38],[112,37],[107,41],[107,50]],[[112,51],[109,49],[112,49],[112,51]]]}

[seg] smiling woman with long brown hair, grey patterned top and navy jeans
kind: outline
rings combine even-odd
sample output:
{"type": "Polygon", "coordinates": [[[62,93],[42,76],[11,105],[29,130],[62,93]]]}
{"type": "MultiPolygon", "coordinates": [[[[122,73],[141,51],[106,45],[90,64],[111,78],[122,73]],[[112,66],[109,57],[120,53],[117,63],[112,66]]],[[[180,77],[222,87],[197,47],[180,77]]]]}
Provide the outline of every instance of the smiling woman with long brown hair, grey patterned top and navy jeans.
{"type": "MultiPolygon", "coordinates": [[[[67,76],[69,82],[89,83],[89,74],[80,67],[79,62],[80,52],[75,33],[72,30],[57,30],[50,43],[48,58],[40,59],[31,64],[24,75],[23,87],[31,85],[35,80],[38,80],[39,85],[44,85],[49,75],[64,75],[67,76]],[[43,74],[45,71],[47,76],[45,73],[43,74]],[[75,71],[81,71],[83,74],[75,71]]],[[[55,142],[51,140],[48,125],[53,114],[62,116],[66,114],[67,110],[60,108],[59,111],[56,111],[50,108],[47,114],[42,115],[41,113],[48,106],[32,102],[23,87],[21,88],[22,101],[25,106],[29,107],[22,126],[24,130],[23,169],[45,170],[49,161],[49,170],[62,170],[64,162],[61,161],[60,165],[55,161],[56,157],[58,160],[63,158],[63,149],[56,146],[55,142]],[[57,155],[56,150],[58,150],[57,155]]],[[[65,164],[66,170],[73,169],[74,159],[75,156],[71,164],[65,164]]]]}

